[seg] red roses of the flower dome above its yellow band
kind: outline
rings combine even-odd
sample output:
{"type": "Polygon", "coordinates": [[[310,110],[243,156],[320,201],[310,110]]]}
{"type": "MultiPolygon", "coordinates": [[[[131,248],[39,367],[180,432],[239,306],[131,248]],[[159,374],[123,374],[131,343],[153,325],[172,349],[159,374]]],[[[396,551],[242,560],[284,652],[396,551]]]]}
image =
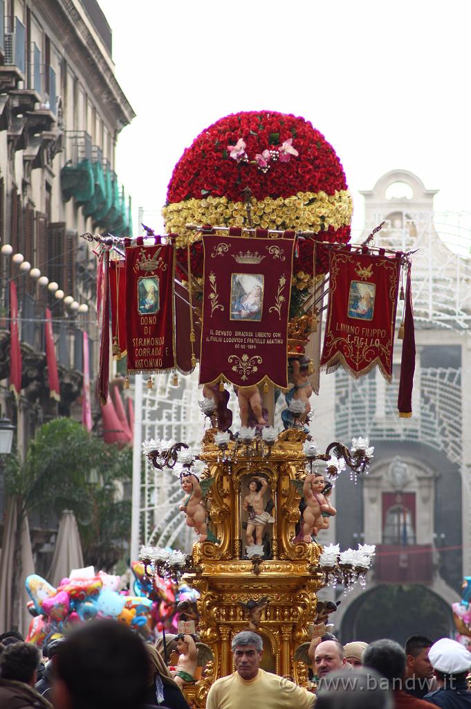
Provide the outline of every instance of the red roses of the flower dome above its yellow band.
{"type": "Polygon", "coordinates": [[[167,204],[208,196],[243,201],[249,187],[255,199],[287,198],[298,192],[346,191],[344,169],[334,148],[305,118],[276,111],[244,111],[220,118],[198,135],[176,164],[167,204]],[[242,138],[246,162],[230,157],[230,147],[242,138]],[[256,155],[292,141],[298,155],[289,162],[270,162],[261,172],[256,155]]]}

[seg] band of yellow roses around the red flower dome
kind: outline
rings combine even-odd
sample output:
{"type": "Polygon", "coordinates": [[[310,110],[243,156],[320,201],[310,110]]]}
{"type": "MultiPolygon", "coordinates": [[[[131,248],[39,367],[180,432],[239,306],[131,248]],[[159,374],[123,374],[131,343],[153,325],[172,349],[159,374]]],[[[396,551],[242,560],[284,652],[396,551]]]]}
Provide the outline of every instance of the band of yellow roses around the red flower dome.
{"type": "MultiPolygon", "coordinates": [[[[351,223],[353,201],[348,190],[339,190],[332,195],[323,191],[297,192],[286,197],[265,197],[257,201],[252,197],[252,221],[261,229],[293,229],[320,231],[329,227],[336,229],[351,223]]],[[[167,233],[176,233],[177,247],[186,246],[194,233],[186,224],[212,224],[245,226],[244,202],[232,202],[227,197],[208,196],[205,199],[186,199],[169,204],[162,209],[167,233]]]]}

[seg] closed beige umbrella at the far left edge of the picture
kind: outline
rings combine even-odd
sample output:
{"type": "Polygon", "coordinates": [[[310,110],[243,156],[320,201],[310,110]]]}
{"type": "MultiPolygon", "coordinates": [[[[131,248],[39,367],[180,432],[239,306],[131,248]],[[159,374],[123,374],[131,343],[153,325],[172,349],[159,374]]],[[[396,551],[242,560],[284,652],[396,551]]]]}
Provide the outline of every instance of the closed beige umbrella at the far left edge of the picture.
{"type": "Polygon", "coordinates": [[[25,637],[31,616],[26,609],[30,600],[25,588],[26,576],[34,574],[28,518],[23,518],[18,534],[18,500],[8,500],[4,518],[4,542],[0,555],[0,632],[18,630],[25,637]],[[16,577],[13,578],[13,574],[16,577]]]}

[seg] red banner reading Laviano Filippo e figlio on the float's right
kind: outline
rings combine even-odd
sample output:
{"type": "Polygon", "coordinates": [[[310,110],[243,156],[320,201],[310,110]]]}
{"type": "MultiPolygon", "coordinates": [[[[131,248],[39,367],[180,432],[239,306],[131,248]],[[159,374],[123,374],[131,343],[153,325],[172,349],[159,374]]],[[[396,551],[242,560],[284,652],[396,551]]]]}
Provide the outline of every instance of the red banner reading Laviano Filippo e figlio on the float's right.
{"type": "Polygon", "coordinates": [[[331,252],[329,307],[321,367],[341,366],[354,377],[379,367],[392,381],[401,255],[331,252]]]}

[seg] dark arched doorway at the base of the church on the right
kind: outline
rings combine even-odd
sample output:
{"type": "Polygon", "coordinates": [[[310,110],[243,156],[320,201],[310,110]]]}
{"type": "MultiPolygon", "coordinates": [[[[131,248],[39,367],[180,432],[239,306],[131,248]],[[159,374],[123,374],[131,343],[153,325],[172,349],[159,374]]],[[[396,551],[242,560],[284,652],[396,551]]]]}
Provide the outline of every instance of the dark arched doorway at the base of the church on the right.
{"type": "Polygon", "coordinates": [[[453,615],[443,598],[420,584],[382,584],[362,593],[346,610],[342,642],[383,637],[404,646],[410,635],[431,640],[453,635],[453,615]]]}

